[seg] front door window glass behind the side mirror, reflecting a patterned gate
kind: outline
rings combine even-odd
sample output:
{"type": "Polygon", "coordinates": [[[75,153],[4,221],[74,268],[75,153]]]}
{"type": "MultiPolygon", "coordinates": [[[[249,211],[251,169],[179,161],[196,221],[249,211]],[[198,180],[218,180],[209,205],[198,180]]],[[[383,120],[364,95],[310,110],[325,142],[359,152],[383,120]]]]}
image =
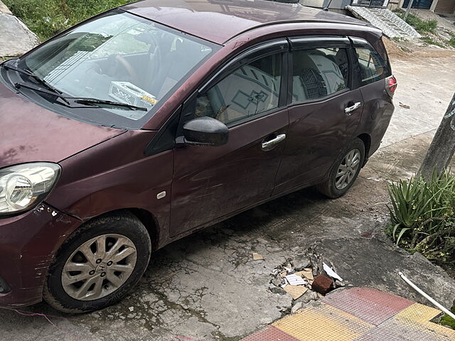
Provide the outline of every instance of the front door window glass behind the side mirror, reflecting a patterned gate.
{"type": "Polygon", "coordinates": [[[275,109],[281,78],[281,53],[243,65],[199,95],[195,116],[213,117],[224,124],[232,124],[275,109]]]}

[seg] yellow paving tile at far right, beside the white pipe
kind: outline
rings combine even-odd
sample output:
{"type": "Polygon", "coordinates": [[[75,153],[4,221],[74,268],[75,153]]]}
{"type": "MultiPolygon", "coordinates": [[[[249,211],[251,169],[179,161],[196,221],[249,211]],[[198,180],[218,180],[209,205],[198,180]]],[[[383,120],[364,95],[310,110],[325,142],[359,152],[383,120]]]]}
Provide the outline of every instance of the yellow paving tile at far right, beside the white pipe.
{"type": "Polygon", "coordinates": [[[422,332],[432,332],[435,334],[435,337],[441,337],[441,340],[455,341],[455,330],[429,322],[440,313],[441,310],[420,303],[414,303],[395,315],[394,319],[403,325],[410,326],[410,328],[417,328],[422,330],[422,332]]]}

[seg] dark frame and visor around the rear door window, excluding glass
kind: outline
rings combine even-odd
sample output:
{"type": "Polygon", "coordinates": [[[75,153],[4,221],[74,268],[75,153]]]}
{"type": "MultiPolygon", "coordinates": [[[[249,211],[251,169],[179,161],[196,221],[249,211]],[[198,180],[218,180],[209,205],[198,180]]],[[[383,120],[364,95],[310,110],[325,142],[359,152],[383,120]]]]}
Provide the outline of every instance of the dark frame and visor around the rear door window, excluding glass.
{"type": "Polygon", "coordinates": [[[355,84],[355,75],[354,75],[354,63],[355,59],[353,54],[353,47],[350,40],[350,37],[347,36],[308,36],[308,37],[290,37],[290,51],[289,51],[289,61],[288,61],[288,92],[287,92],[287,106],[294,107],[296,105],[302,104],[314,104],[318,102],[325,102],[327,99],[336,97],[339,94],[355,90],[358,86],[355,84]],[[304,101],[292,102],[292,89],[293,89],[293,70],[294,70],[294,60],[293,52],[301,50],[314,50],[316,48],[344,48],[346,49],[346,55],[349,63],[349,72],[348,72],[348,85],[345,89],[333,92],[327,96],[320,97],[317,99],[307,99],[304,101]]]}

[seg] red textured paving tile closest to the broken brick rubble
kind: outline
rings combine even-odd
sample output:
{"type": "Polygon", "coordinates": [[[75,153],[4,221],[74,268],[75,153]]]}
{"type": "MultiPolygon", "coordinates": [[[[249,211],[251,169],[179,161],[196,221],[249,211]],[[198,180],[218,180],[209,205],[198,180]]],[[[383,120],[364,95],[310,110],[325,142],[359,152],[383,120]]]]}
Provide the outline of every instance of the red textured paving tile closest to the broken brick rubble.
{"type": "Polygon", "coordinates": [[[405,298],[373,288],[338,291],[322,301],[373,325],[379,325],[413,304],[405,298]]]}

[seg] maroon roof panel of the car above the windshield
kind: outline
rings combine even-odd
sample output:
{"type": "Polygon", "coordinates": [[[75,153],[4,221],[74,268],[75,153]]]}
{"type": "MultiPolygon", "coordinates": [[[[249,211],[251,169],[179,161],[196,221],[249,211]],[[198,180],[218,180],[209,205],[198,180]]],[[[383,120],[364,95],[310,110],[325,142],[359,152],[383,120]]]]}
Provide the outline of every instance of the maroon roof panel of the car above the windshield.
{"type": "Polygon", "coordinates": [[[274,23],[368,26],[342,14],[266,0],[144,0],[122,9],[221,45],[245,31],[274,23]]]}

